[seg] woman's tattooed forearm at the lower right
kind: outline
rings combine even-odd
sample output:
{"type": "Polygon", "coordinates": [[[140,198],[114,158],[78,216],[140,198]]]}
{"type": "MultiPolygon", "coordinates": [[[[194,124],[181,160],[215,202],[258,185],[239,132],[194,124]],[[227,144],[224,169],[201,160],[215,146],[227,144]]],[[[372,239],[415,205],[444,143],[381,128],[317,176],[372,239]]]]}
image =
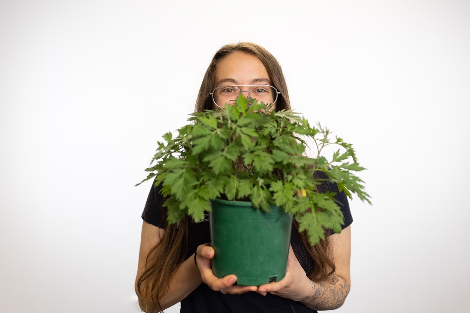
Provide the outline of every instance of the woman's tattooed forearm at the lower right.
{"type": "Polygon", "coordinates": [[[313,295],[306,296],[300,302],[316,310],[331,310],[339,308],[349,293],[350,285],[346,280],[331,275],[321,283],[311,282],[313,295]]]}

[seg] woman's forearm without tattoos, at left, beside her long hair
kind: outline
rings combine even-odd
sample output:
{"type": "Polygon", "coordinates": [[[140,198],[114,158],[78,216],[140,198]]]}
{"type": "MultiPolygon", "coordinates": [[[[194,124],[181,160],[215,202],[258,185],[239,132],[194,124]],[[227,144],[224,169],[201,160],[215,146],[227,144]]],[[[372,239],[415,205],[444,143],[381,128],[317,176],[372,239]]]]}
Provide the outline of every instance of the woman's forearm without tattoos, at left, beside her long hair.
{"type": "MultiPolygon", "coordinates": [[[[172,305],[186,298],[202,283],[201,274],[194,263],[194,256],[186,259],[174,272],[168,286],[168,291],[160,299],[162,309],[167,309],[172,305]]],[[[136,291],[137,292],[137,291],[136,291]]],[[[137,294],[139,297],[139,305],[143,310],[143,299],[149,299],[148,295],[137,294]]],[[[158,312],[157,308],[149,310],[149,313],[158,312]]]]}

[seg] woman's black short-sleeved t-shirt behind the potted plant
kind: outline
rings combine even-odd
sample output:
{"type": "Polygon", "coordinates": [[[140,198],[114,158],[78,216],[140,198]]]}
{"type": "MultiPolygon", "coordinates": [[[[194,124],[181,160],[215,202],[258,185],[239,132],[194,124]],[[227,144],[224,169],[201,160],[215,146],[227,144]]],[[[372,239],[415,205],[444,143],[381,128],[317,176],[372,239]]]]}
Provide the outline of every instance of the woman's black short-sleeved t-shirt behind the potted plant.
{"type": "MultiPolygon", "coordinates": [[[[325,183],[320,188],[323,191],[336,192],[335,199],[339,201],[341,211],[344,215],[343,229],[352,223],[348,199],[344,192],[338,192],[335,184],[325,183]]],[[[153,186],[147,198],[142,218],[145,222],[154,226],[165,228],[165,215],[162,214],[164,198],[160,194],[160,186],[153,186]]],[[[189,243],[186,258],[194,254],[197,246],[210,242],[209,217],[199,222],[189,222],[189,243]]],[[[301,244],[299,233],[292,231],[291,245],[299,263],[308,274],[314,267],[313,260],[305,252],[301,244]]],[[[307,308],[300,302],[285,299],[268,293],[262,296],[256,292],[247,292],[239,295],[223,294],[213,291],[206,284],[199,285],[191,294],[181,301],[181,313],[314,313],[316,311],[307,308]]]]}

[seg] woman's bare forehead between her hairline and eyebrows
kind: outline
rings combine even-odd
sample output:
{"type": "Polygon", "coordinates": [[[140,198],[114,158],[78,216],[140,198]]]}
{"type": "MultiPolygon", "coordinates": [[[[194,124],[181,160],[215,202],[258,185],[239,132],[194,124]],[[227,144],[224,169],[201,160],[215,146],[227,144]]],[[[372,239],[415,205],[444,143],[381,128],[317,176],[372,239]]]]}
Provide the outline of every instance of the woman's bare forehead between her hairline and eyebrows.
{"type": "Polygon", "coordinates": [[[217,63],[215,84],[217,85],[221,80],[232,80],[240,85],[249,85],[254,80],[266,80],[269,83],[269,75],[258,57],[237,51],[217,63]]]}

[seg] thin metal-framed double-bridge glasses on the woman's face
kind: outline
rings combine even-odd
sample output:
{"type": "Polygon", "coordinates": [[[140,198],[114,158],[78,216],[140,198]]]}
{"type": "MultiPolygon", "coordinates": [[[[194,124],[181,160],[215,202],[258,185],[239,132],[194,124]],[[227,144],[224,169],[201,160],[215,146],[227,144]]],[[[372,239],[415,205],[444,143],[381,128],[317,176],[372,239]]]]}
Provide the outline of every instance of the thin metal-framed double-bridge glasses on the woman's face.
{"type": "Polygon", "coordinates": [[[220,86],[214,89],[212,98],[218,107],[223,108],[227,103],[233,104],[240,93],[265,104],[274,103],[278,98],[278,90],[269,85],[220,86]]]}

